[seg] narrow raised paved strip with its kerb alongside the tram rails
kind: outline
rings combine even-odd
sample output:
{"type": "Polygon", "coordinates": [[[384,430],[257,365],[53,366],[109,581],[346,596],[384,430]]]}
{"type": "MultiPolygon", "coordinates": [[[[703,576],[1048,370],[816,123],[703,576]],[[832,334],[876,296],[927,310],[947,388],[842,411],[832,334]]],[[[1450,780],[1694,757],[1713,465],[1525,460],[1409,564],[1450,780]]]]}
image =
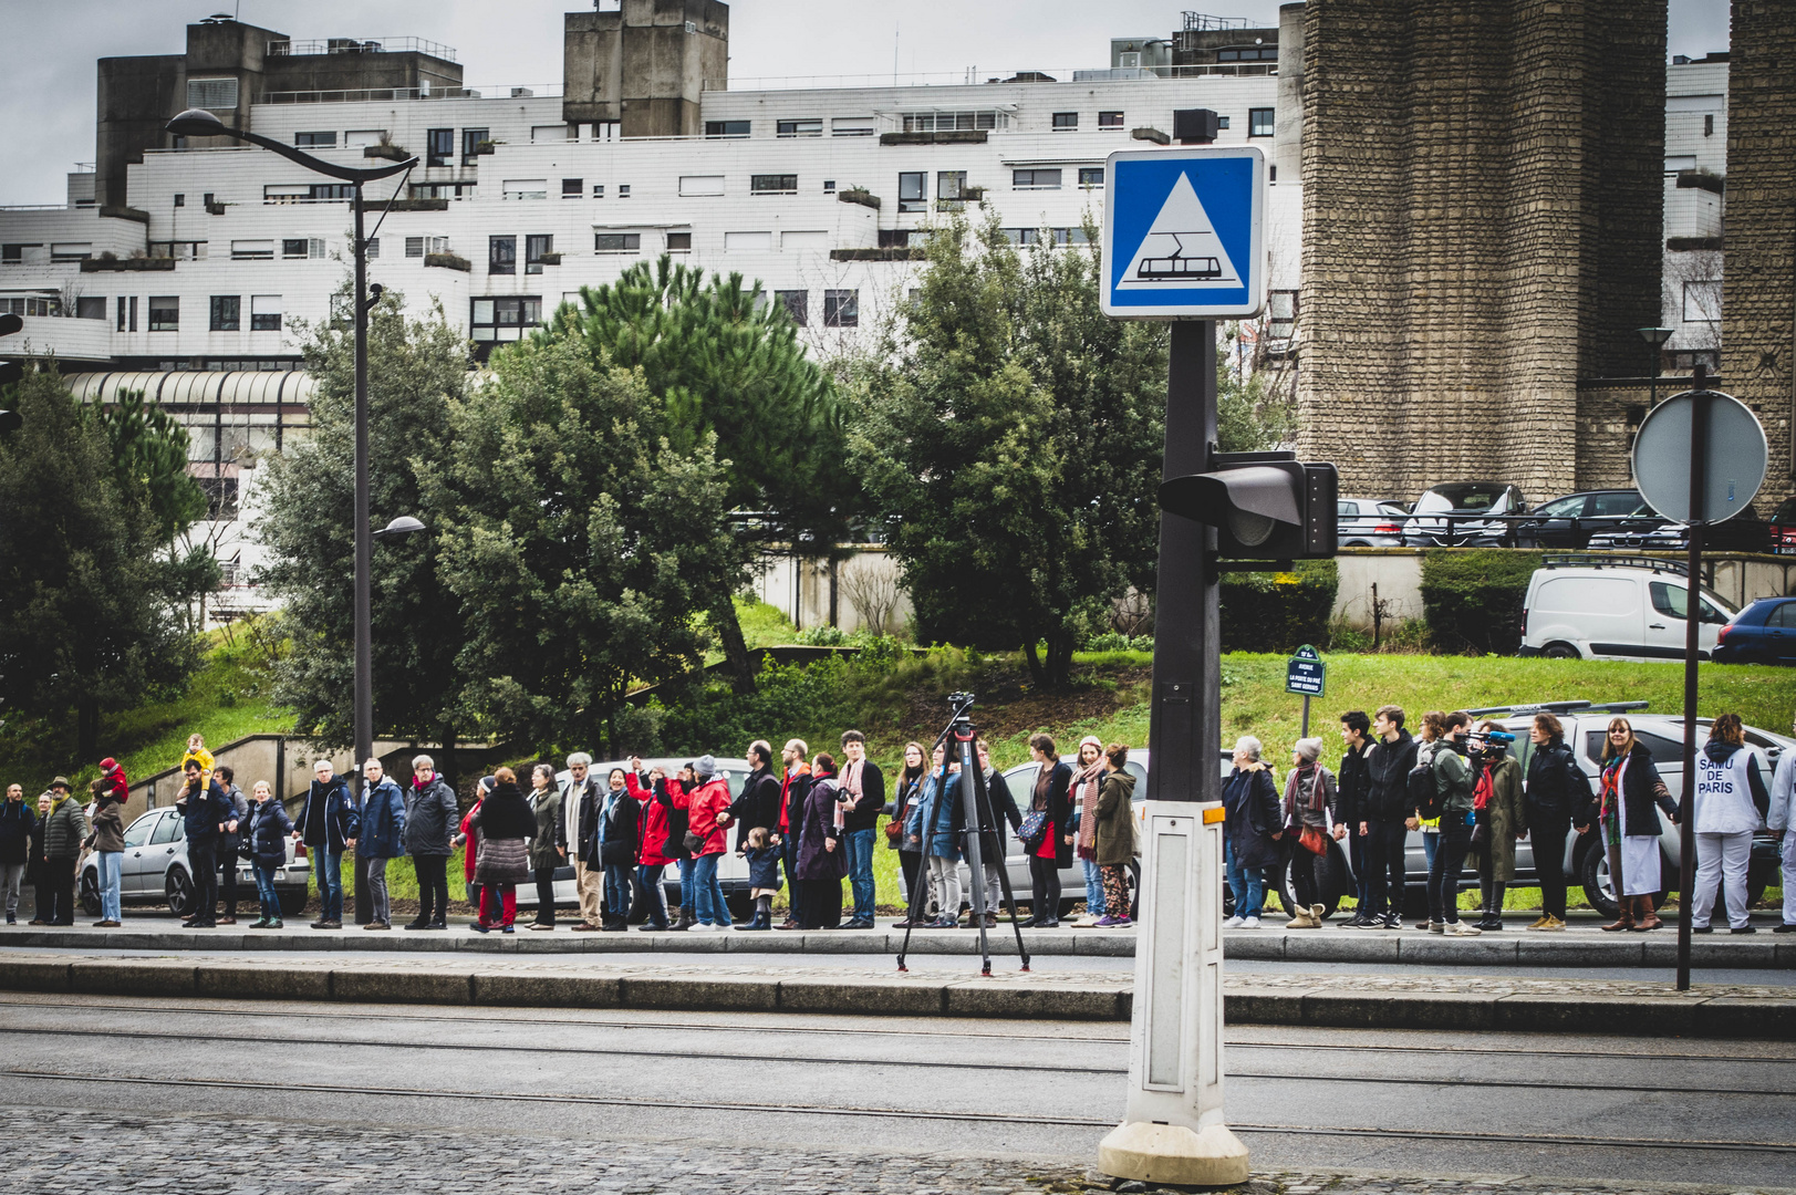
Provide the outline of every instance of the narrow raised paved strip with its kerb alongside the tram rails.
{"type": "MultiPolygon", "coordinates": [[[[95,958],[0,954],[0,990],[104,996],[201,996],[359,1003],[494,1005],[555,1008],[700,1008],[711,1012],[864,1014],[880,1008],[920,1017],[1020,1017],[1126,1021],[1133,1008],[1126,972],[1038,972],[999,965],[981,978],[932,967],[810,969],[767,960],[740,967],[682,969],[656,956],[242,960],[95,958]]],[[[1789,988],[1580,981],[1500,976],[1225,976],[1230,1024],[1334,1028],[1433,1028],[1651,1037],[1758,1037],[1796,1040],[1789,988]]]]}

